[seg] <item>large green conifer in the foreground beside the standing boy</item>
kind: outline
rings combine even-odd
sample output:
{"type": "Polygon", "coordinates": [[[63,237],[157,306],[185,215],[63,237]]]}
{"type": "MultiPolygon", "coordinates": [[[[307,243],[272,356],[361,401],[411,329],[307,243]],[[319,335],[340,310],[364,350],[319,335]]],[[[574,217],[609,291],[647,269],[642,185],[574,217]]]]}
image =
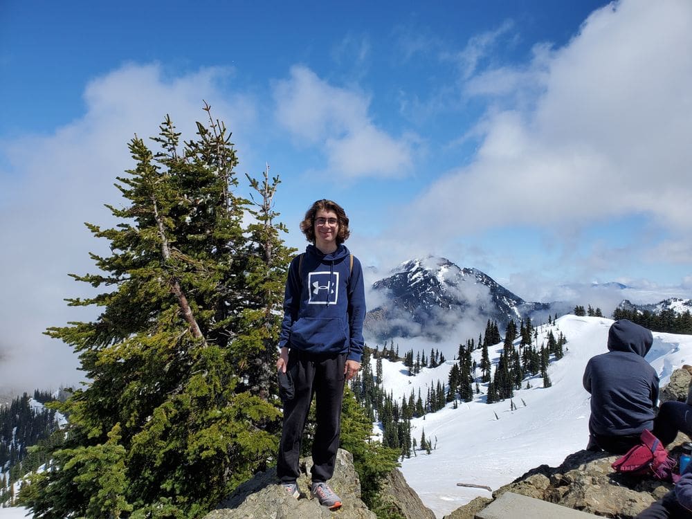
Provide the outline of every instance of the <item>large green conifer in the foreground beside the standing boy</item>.
{"type": "Polygon", "coordinates": [[[107,290],[69,300],[100,307],[96,320],[47,331],[90,382],[51,404],[70,424],[33,478],[35,515],[201,516],[275,453],[280,411],[263,371],[289,255],[272,223],[278,181],[251,181],[262,198],[244,227],[230,133],[209,120],[181,147],[166,117],[161,152],[135,136],[117,184],[126,204],[108,206],[120,223],[87,224],[110,255],[73,277],[107,290]]]}

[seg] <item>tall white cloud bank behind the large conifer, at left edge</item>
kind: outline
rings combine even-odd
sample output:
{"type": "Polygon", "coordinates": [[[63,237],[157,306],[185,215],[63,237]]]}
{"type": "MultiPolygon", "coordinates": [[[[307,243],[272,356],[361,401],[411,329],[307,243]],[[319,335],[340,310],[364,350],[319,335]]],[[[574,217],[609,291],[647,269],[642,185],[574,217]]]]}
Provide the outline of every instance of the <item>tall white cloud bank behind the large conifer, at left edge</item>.
{"type": "Polygon", "coordinates": [[[88,253],[106,247],[84,221],[113,223],[103,204],[120,204],[113,182],[133,165],[127,143],[135,132],[145,140],[158,133],[167,113],[187,138],[195,120],[206,122],[203,99],[215,117],[253,125],[252,102],[221,93],[227,73],[202,69],[164,78],[159,66],[127,64],[86,87],[82,118],[48,136],[0,142],[2,388],[57,388],[81,379],[71,349],[41,332],[95,317],[95,309],[69,308],[63,300],[89,295],[67,274],[95,271],[88,253]]]}

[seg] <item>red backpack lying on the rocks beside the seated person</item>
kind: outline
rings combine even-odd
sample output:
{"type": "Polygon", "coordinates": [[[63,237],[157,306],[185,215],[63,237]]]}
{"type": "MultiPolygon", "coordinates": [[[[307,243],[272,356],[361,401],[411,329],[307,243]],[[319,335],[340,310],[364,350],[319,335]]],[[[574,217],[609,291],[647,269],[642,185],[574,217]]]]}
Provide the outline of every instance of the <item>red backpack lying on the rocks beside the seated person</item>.
{"type": "Polygon", "coordinates": [[[630,448],[623,456],[612,462],[612,468],[630,475],[651,475],[657,480],[673,481],[675,458],[650,430],[641,431],[641,443],[630,448]]]}

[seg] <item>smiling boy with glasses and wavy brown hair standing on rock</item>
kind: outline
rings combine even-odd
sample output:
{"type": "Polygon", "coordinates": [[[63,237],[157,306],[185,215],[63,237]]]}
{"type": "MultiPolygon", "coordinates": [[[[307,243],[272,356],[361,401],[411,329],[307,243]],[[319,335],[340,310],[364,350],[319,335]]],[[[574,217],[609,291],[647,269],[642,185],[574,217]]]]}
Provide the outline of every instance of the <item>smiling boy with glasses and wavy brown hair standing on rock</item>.
{"type": "Polygon", "coordinates": [[[331,200],[318,200],[305,213],[300,230],[311,245],[289,267],[276,363],[280,379],[286,374],[293,385],[292,398],[284,392],[277,477],[298,498],[300,444],[314,394],[311,493],[331,510],[341,507],[327,482],[339,446],[344,384],[361,369],[363,354],[363,271],[343,245],[348,223],[343,208],[331,200]]]}

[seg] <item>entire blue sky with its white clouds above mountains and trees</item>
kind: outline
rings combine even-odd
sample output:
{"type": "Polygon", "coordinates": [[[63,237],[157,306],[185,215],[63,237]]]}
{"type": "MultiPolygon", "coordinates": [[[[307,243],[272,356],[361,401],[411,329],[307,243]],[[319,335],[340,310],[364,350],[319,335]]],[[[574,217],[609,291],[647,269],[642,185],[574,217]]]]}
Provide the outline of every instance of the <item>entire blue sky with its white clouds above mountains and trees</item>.
{"type": "Polygon", "coordinates": [[[280,175],[293,246],[327,197],[381,272],[431,253],[527,300],[690,297],[692,3],[373,4],[1,2],[6,365],[63,366],[41,331],[81,318],[83,222],[112,223],[132,136],[167,113],[192,136],[203,100],[239,179],[280,175]]]}

